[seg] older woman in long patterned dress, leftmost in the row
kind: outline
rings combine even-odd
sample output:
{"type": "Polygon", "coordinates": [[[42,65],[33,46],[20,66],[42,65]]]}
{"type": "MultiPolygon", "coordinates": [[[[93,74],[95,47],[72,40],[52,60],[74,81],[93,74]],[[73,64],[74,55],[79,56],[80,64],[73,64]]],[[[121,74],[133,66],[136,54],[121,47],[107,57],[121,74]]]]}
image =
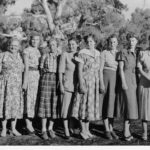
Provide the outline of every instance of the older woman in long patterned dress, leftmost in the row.
{"type": "Polygon", "coordinates": [[[0,118],[2,118],[1,136],[7,133],[7,121],[11,120],[12,134],[20,136],[16,130],[17,119],[23,118],[22,73],[24,65],[20,56],[20,42],[12,39],[9,51],[0,54],[1,94],[0,118]]]}

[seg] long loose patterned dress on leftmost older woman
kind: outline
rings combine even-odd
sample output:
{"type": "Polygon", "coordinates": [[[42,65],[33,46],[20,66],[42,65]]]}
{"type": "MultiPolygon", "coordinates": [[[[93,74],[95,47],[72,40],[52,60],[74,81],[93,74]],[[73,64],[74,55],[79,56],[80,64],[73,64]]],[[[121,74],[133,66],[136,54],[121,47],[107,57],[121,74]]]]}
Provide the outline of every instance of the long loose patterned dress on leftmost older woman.
{"type": "Polygon", "coordinates": [[[21,119],[23,117],[22,72],[24,69],[20,54],[0,54],[0,118],[21,119]]]}

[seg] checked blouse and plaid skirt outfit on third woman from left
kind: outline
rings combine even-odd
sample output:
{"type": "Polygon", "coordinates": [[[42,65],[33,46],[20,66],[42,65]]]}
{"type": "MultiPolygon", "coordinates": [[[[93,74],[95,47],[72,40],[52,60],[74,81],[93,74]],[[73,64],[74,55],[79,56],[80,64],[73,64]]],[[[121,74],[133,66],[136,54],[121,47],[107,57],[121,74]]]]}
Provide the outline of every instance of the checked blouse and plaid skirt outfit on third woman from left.
{"type": "Polygon", "coordinates": [[[40,69],[40,98],[38,116],[56,119],[60,116],[57,86],[57,68],[59,52],[46,53],[42,56],[40,69]]]}

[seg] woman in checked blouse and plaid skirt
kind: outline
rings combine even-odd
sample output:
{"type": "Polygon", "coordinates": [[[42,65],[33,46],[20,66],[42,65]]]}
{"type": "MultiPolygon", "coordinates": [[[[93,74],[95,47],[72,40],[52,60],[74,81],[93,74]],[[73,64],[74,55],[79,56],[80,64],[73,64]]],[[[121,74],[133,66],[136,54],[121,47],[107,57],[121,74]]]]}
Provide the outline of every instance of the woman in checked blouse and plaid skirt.
{"type": "Polygon", "coordinates": [[[40,101],[38,109],[38,117],[42,119],[42,138],[48,139],[55,137],[53,130],[54,120],[59,116],[58,110],[58,93],[57,93],[57,62],[60,51],[56,39],[49,42],[49,52],[45,53],[41,58],[40,70],[40,101]],[[49,121],[47,134],[47,120],[49,121]]]}

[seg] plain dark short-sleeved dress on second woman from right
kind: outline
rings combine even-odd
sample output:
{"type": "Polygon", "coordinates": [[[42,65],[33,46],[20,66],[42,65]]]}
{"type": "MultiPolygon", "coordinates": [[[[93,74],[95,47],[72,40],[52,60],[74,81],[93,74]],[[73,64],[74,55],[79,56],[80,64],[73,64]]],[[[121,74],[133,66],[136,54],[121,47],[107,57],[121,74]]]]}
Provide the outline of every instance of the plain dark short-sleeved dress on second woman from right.
{"type": "Polygon", "coordinates": [[[136,53],[130,50],[123,50],[118,56],[118,61],[124,62],[125,80],[128,86],[127,90],[122,90],[123,115],[125,119],[138,119],[137,103],[137,81],[136,81],[136,53]]]}

